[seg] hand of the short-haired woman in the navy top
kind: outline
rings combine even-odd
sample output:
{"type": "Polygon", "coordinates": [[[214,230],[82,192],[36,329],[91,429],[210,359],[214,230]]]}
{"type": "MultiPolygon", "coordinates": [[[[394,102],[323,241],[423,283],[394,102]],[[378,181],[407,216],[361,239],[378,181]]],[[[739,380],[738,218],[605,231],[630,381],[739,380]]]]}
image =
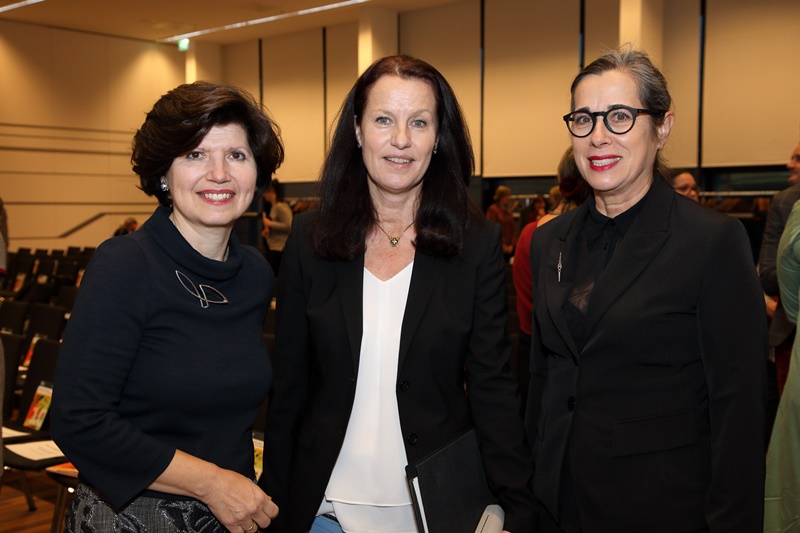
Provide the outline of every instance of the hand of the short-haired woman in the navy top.
{"type": "Polygon", "coordinates": [[[221,470],[203,500],[232,533],[264,529],[278,516],[278,506],[258,485],[231,470],[221,470]]]}

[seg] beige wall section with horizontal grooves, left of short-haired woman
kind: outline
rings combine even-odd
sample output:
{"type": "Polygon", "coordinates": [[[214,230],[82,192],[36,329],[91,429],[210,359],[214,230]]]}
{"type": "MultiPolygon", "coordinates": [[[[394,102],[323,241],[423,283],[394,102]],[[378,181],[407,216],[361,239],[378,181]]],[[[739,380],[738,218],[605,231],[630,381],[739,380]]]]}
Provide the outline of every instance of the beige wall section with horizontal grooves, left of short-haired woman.
{"type": "Polygon", "coordinates": [[[143,222],[155,202],[136,188],[130,142],[183,82],[175,47],[0,22],[0,69],[10,248],[97,246],[126,216],[143,222]]]}

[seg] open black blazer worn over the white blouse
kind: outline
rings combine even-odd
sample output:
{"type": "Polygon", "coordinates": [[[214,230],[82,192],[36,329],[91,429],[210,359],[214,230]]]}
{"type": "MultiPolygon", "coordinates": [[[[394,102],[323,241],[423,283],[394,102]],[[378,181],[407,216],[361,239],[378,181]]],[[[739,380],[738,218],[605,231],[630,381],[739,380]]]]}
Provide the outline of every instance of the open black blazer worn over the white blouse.
{"type": "MultiPolygon", "coordinates": [[[[364,258],[320,259],[309,243],[312,220],[295,217],[284,250],[259,483],[280,508],[276,528],[292,533],[311,525],[341,449],[363,324],[364,258]]],[[[506,300],[496,224],[471,220],[462,259],[417,252],[396,391],[408,460],[474,425],[506,528],[522,533],[533,527],[532,457],[507,364],[506,300]]]]}

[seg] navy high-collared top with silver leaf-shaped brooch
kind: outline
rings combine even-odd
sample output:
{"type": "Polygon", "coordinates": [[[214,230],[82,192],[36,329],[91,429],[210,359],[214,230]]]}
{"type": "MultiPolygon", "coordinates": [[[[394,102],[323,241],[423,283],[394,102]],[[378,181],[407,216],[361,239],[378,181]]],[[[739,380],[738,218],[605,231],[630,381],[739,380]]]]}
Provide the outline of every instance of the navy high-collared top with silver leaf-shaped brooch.
{"type": "Polygon", "coordinates": [[[53,438],[116,509],[176,498],[145,490],[176,449],[254,477],[251,427],[272,381],[272,271],[235,235],[226,261],[202,256],[171,212],[98,247],[53,387],[53,438]]]}

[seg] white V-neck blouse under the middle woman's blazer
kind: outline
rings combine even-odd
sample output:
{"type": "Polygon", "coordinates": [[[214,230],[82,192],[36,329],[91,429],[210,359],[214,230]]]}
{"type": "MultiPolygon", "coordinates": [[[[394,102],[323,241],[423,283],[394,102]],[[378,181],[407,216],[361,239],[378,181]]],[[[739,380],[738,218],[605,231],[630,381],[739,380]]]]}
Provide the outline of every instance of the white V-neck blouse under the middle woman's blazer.
{"type": "Polygon", "coordinates": [[[347,533],[417,533],[397,410],[400,331],[412,262],[381,281],[364,269],[364,332],[356,395],[319,513],[347,533]]]}

